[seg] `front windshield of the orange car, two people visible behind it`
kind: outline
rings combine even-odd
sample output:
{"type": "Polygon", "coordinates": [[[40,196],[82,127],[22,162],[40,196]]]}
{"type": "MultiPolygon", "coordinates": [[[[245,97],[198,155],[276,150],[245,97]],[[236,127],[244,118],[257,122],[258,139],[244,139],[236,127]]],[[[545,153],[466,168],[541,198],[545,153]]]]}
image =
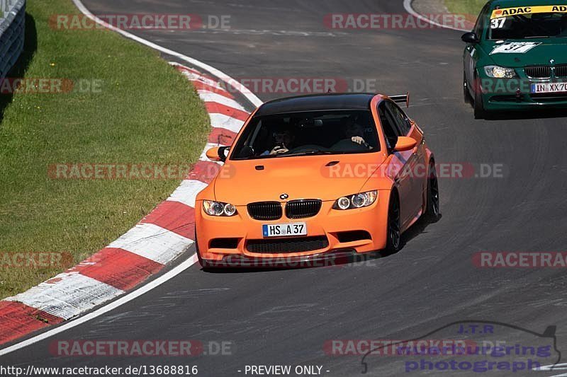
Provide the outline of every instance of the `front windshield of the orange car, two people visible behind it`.
{"type": "Polygon", "coordinates": [[[369,110],[291,112],[254,117],[237,141],[232,160],[380,150],[369,110]]]}

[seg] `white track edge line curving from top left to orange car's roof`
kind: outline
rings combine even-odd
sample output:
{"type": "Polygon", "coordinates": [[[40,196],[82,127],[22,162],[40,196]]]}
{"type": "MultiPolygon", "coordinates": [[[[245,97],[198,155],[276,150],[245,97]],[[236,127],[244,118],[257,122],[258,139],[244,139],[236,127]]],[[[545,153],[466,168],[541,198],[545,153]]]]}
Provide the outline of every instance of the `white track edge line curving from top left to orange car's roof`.
{"type": "Polygon", "coordinates": [[[106,27],[108,29],[116,31],[116,33],[119,33],[120,35],[123,35],[124,37],[127,37],[131,40],[135,40],[136,42],[142,43],[142,45],[146,45],[147,47],[151,47],[154,50],[157,50],[159,52],[163,52],[164,54],[171,55],[172,57],[176,57],[178,59],[184,60],[185,62],[188,62],[189,64],[191,64],[193,66],[198,66],[199,68],[204,69],[205,71],[209,72],[210,74],[213,74],[213,76],[217,77],[218,79],[225,81],[225,83],[228,83],[229,85],[235,84],[235,85],[233,85],[235,87],[235,89],[237,89],[237,91],[240,91],[240,93],[242,93],[242,95],[244,95],[247,98],[247,100],[249,100],[252,104],[254,104],[254,106],[262,105],[262,100],[260,100],[254,93],[252,93],[245,86],[240,85],[235,79],[232,79],[232,77],[228,76],[228,74],[225,74],[223,71],[219,71],[215,67],[210,66],[206,63],[203,63],[203,62],[201,62],[197,59],[193,59],[192,57],[188,57],[184,54],[180,54],[179,52],[176,52],[174,50],[169,50],[168,48],[157,45],[154,42],[150,42],[149,40],[145,40],[141,37],[137,37],[136,35],[130,34],[126,31],[124,31],[124,30],[116,28],[113,25],[110,25],[110,24],[102,21],[100,18],[94,16],[94,14],[91,13],[91,11],[89,11],[89,9],[87,9],[86,6],[84,6],[80,0],[73,0],[73,3],[75,4],[75,6],[77,6],[77,8],[79,8],[79,11],[81,11],[86,17],[90,18],[92,21],[98,23],[99,25],[103,25],[104,27],[106,27]]]}

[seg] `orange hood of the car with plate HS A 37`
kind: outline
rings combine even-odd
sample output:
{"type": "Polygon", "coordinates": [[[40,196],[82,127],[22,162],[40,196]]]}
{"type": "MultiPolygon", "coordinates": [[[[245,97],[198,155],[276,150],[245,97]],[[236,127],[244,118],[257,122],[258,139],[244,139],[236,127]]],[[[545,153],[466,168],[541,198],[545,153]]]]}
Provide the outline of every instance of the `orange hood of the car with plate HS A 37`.
{"type": "Polygon", "coordinates": [[[359,192],[383,161],[382,153],[228,161],[213,182],[215,198],[235,205],[282,201],[282,194],[286,200],[336,200],[359,192]]]}

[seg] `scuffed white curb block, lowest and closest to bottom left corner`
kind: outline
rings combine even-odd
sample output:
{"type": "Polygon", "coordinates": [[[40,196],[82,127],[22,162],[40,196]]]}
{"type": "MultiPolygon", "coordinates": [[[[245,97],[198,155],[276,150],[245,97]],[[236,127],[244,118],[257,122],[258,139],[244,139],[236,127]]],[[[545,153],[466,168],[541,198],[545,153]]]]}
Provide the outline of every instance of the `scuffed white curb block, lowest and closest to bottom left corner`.
{"type": "Polygon", "coordinates": [[[17,301],[68,320],[124,293],[79,272],[63,272],[6,301],[17,301]]]}

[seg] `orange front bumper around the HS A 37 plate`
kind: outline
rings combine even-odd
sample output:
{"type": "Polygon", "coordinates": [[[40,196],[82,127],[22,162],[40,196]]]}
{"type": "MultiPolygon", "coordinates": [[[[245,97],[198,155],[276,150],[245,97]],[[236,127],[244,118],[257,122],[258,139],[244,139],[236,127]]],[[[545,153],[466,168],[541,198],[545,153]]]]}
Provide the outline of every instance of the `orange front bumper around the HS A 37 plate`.
{"type": "Polygon", "coordinates": [[[237,206],[235,216],[209,216],[203,211],[202,201],[196,203],[196,238],[201,260],[221,262],[230,260],[288,260],[320,258],[337,252],[351,250],[367,253],[386,247],[386,228],[389,190],[380,190],[378,199],[369,207],[361,209],[332,209],[334,202],[322,202],[319,213],[306,219],[288,219],[285,214],[275,221],[261,221],[249,216],[246,206],[237,206]],[[307,236],[264,238],[263,224],[304,222],[307,236]],[[354,233],[353,233],[354,232],[354,233]],[[361,236],[363,235],[363,236],[361,236]],[[365,235],[365,236],[364,236],[365,235]],[[252,253],[248,243],[263,243],[277,240],[298,240],[322,236],[328,245],[310,251],[286,250],[284,253],[252,253]],[[354,239],[354,240],[353,240],[354,239]]]}

